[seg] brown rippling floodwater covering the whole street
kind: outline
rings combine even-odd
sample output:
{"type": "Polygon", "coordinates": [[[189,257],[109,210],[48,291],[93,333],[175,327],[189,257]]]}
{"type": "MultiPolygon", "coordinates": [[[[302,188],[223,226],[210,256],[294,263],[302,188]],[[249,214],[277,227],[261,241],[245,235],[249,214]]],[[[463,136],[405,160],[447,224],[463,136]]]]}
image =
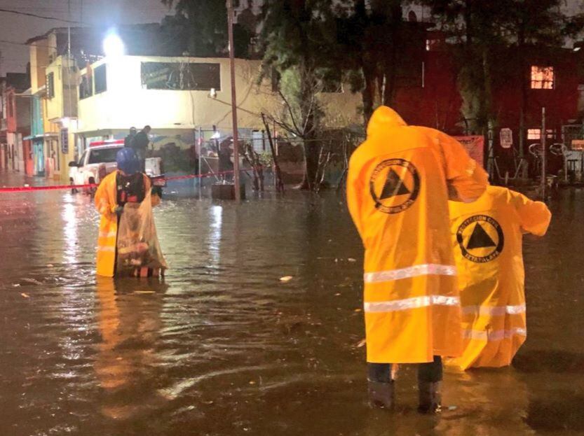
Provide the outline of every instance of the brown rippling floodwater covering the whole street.
{"type": "Polygon", "coordinates": [[[0,435],[582,435],[584,190],[550,206],[515,367],[448,370],[429,417],[413,369],[397,412],[367,407],[362,250],[334,192],[166,200],[162,283],[96,279],[85,195],[0,193],[0,435]]]}

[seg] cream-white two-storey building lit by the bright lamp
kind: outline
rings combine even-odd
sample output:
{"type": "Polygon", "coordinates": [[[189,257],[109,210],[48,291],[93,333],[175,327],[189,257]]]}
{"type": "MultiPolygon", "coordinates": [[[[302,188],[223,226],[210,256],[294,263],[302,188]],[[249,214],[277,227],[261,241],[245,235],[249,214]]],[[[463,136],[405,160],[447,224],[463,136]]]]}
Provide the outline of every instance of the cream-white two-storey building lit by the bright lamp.
{"type": "MultiPolygon", "coordinates": [[[[238,127],[264,129],[261,113],[279,113],[271,80],[258,83],[260,61],[236,59],[238,127]]],[[[227,58],[109,57],[80,71],[76,133],[87,141],[121,139],[130,127],[152,127],[156,136],[187,135],[214,127],[231,132],[231,79],[227,58]]],[[[330,119],[359,124],[360,95],[322,95],[330,119]]],[[[336,127],[336,126],[330,126],[336,127]]]]}

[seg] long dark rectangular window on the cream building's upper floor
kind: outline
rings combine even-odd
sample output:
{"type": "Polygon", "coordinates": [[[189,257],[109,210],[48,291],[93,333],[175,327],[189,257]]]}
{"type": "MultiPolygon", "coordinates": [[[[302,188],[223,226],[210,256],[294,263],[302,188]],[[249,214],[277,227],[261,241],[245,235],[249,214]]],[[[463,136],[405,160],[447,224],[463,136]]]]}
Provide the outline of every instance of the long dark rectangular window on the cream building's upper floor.
{"type": "Polygon", "coordinates": [[[221,90],[220,64],[142,62],[142,85],[147,90],[221,90]]]}

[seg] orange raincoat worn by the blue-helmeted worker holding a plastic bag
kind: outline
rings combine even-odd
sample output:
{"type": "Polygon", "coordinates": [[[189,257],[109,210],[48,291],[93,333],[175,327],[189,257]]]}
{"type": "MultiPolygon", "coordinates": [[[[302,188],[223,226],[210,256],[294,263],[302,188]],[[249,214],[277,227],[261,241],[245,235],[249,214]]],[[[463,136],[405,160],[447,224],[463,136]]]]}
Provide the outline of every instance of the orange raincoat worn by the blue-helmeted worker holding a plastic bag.
{"type": "MultiPolygon", "coordinates": [[[[97,275],[113,277],[116,271],[116,241],[118,237],[118,216],[116,174],[114,171],[104,177],[95,192],[95,207],[101,214],[100,234],[97,237],[97,275]]],[[[144,174],[144,186],[150,190],[150,179],[144,174]]],[[[160,197],[152,195],[152,206],[160,204],[160,197]]]]}

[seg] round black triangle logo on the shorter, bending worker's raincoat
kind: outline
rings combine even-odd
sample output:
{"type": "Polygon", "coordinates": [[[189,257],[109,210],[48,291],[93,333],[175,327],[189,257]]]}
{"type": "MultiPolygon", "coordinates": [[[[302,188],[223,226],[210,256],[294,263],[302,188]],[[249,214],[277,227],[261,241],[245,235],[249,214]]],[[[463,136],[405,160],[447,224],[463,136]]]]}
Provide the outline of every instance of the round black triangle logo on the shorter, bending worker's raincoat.
{"type": "Polygon", "coordinates": [[[503,229],[494,218],[488,215],[475,215],[467,218],[456,231],[462,255],[476,263],[491,262],[503,251],[505,237],[503,229]]]}

